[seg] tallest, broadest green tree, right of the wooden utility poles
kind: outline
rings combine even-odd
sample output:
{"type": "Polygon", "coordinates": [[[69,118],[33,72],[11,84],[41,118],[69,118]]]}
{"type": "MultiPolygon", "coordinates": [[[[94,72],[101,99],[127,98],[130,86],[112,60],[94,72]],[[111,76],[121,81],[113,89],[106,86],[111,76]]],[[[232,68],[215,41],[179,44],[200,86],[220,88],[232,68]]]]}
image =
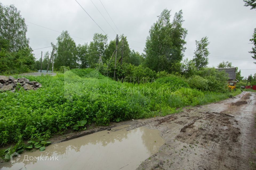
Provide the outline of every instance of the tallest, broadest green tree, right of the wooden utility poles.
{"type": "Polygon", "coordinates": [[[173,72],[179,65],[185,51],[187,30],[182,27],[184,22],[182,10],[176,12],[170,21],[170,11],[164,9],[149,31],[146,39],[145,64],[154,71],[173,72]]]}

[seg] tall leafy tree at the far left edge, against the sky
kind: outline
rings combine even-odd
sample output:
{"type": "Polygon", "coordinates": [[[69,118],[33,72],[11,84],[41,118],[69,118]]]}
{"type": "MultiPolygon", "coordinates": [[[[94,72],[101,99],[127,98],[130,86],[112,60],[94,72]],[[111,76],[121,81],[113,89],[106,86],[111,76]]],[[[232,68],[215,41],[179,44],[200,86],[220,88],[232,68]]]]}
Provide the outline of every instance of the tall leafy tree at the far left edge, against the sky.
{"type": "Polygon", "coordinates": [[[20,11],[14,5],[3,6],[0,3],[0,37],[6,40],[10,52],[29,47],[26,37],[27,26],[20,11]]]}

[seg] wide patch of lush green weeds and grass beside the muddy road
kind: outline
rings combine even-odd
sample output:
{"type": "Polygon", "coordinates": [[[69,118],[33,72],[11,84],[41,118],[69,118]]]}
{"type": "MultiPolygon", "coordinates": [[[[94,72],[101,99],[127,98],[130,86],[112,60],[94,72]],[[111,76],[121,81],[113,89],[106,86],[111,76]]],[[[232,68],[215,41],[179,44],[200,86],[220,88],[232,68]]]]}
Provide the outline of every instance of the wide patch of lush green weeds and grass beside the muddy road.
{"type": "Polygon", "coordinates": [[[47,139],[70,128],[82,130],[91,123],[108,125],[111,121],[165,116],[185,106],[216,102],[241,92],[202,92],[181,80],[177,80],[178,85],[161,79],[145,84],[120,83],[96,70],[74,72],[80,76],[72,71],[26,76],[43,87],[0,93],[0,143],[47,139]]]}

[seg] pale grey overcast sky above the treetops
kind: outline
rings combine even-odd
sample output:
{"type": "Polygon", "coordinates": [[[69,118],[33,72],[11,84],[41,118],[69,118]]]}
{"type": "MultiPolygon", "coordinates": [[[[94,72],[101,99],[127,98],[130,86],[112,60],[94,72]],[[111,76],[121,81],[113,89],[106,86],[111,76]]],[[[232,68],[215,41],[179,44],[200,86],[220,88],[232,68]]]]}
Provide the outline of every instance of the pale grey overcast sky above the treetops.
{"type": "MultiPolygon", "coordinates": [[[[140,53],[145,47],[150,26],[162,10],[171,10],[172,16],[182,10],[185,20],[183,27],[188,30],[185,57],[191,59],[195,40],[207,36],[210,41],[210,67],[216,67],[221,61],[230,61],[233,66],[242,70],[242,76],[248,77],[249,74],[256,73],[256,64],[248,53],[252,48],[249,39],[256,27],[256,10],[243,6],[242,0],[101,0],[120,32],[101,2],[92,0],[116,33],[91,0],[77,1],[112,40],[115,39],[116,33],[120,35],[121,32],[127,36],[130,48],[140,53]]],[[[70,35],[75,36],[72,38],[76,44],[90,42],[95,32],[103,33],[75,0],[2,0],[1,3],[14,4],[21,11],[26,20],[27,37],[32,49],[50,46],[51,42],[56,43],[56,38],[62,30],[67,30],[70,35]]],[[[41,51],[44,53],[47,50],[51,51],[51,48],[34,50],[35,57],[38,59],[41,51]]]]}

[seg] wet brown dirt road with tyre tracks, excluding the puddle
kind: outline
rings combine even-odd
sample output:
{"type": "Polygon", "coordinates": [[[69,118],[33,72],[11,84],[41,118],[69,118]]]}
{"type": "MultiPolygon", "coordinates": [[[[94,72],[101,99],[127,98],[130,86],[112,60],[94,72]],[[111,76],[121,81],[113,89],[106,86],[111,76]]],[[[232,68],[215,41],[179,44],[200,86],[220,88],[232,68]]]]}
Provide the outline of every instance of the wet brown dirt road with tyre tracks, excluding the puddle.
{"type": "Polygon", "coordinates": [[[51,141],[59,143],[120,125],[131,125],[126,130],[144,126],[159,130],[165,144],[138,170],[256,169],[256,93],[242,92],[235,98],[183,110],[165,117],[88,127],[51,141]]]}

